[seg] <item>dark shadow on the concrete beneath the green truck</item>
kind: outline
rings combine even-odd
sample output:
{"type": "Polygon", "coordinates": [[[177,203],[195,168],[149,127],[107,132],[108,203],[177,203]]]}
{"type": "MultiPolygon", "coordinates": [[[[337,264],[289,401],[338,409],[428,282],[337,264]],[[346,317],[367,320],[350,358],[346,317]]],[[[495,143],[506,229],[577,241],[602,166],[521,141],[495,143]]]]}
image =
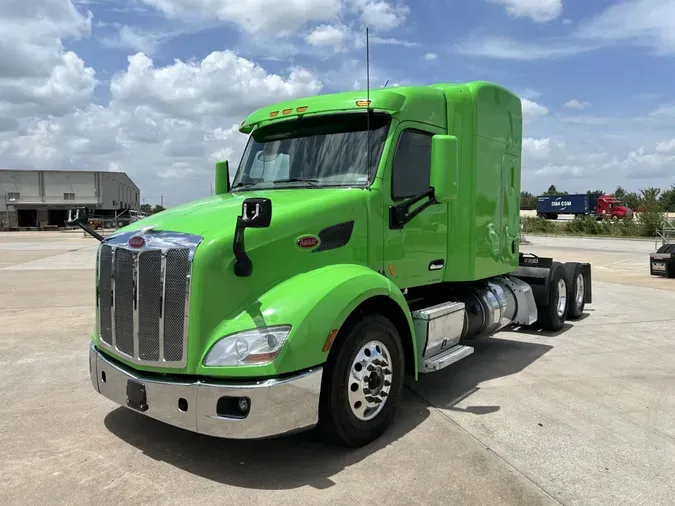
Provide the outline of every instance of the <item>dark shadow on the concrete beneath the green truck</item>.
{"type": "Polygon", "coordinates": [[[104,423],[113,435],[150,458],[218,483],[261,490],[326,489],[335,485],[332,476],[404,438],[434,408],[477,416],[498,411],[499,406],[454,406],[481,383],[516,374],[552,348],[498,337],[471,344],[476,351],[469,357],[434,374],[420,375],[418,383],[408,378],[394,424],[380,439],[356,450],[324,443],[314,431],[266,440],[218,439],[124,407],[108,413],[104,423]]]}

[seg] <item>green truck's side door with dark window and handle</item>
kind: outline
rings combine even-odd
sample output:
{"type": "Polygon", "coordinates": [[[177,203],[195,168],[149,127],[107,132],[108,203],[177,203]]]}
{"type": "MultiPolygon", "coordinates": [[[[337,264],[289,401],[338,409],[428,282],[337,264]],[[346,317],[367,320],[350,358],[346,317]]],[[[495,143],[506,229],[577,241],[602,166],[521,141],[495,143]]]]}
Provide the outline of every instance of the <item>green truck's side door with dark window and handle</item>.
{"type": "MultiPolygon", "coordinates": [[[[448,247],[447,205],[432,205],[406,223],[392,228],[390,207],[417,197],[430,187],[431,138],[440,128],[402,122],[394,134],[384,173],[384,274],[400,288],[443,279],[448,247]]],[[[426,198],[411,207],[424,204],[426,198]]]]}

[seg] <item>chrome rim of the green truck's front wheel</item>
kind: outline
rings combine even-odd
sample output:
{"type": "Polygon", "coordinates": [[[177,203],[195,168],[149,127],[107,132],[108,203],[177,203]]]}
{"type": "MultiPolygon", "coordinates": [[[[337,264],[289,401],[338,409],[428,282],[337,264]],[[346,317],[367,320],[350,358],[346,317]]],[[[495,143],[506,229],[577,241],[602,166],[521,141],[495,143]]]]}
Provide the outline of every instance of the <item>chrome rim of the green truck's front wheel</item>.
{"type": "Polygon", "coordinates": [[[380,341],[361,347],[347,373],[349,407],[356,418],[369,421],[384,408],[391,390],[391,355],[380,341]]]}

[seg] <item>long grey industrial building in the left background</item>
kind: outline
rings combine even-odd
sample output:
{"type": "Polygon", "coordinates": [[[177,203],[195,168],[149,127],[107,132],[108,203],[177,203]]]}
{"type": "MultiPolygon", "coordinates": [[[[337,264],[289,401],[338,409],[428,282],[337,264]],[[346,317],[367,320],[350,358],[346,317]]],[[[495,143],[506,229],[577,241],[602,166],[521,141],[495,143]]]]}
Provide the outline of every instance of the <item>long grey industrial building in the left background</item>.
{"type": "Polygon", "coordinates": [[[63,227],[71,207],[114,217],[138,211],[140,191],[124,172],[0,169],[0,229],[63,227]]]}

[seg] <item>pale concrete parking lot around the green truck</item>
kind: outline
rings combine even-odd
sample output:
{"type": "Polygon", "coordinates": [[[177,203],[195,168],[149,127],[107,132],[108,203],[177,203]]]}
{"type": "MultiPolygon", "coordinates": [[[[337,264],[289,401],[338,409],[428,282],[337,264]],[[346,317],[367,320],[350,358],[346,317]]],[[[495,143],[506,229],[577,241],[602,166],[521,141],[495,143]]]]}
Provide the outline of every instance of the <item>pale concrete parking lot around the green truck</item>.
{"type": "Polygon", "coordinates": [[[0,503],[672,504],[675,280],[649,276],[653,243],[528,239],[593,263],[584,318],[477,341],[354,451],[213,439],[96,394],[97,243],[0,233],[0,503]]]}

